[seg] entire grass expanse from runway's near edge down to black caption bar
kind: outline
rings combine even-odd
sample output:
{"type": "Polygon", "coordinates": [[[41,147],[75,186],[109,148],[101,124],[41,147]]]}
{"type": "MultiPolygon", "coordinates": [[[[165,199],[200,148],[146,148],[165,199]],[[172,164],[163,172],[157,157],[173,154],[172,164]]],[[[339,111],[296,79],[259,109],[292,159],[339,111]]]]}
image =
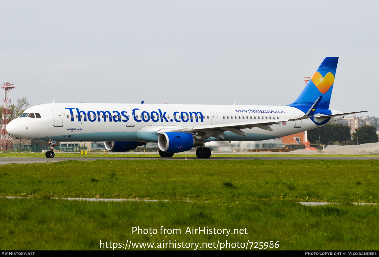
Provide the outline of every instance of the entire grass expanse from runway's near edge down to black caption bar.
{"type": "Polygon", "coordinates": [[[379,206],[351,204],[379,202],[378,164],[378,160],[201,159],[5,164],[0,196],[32,198],[0,197],[0,249],[100,249],[100,240],[154,246],[177,240],[200,243],[199,247],[218,240],[245,244],[249,240],[279,241],[282,250],[378,250],[379,206]],[[303,206],[297,201],[341,204],[303,206]],[[133,226],[155,228],[158,234],[132,234],[133,226]],[[181,234],[161,235],[161,226],[181,229],[181,234]],[[192,226],[232,232],[247,228],[247,234],[185,234],[192,226]]]}

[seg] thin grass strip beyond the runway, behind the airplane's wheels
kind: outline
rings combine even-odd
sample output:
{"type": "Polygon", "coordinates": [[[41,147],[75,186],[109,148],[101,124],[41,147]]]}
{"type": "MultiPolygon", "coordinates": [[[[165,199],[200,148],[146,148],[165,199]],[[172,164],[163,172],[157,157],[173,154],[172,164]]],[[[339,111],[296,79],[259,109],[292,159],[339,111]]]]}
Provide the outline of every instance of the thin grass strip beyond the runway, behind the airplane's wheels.
{"type": "MultiPolygon", "coordinates": [[[[211,158],[213,157],[377,157],[379,159],[379,155],[337,155],[337,154],[287,154],[287,155],[279,155],[279,154],[219,154],[215,153],[211,155],[211,158]]],[[[1,152],[0,157],[35,157],[35,158],[46,158],[44,153],[14,153],[14,152],[1,152]]],[[[55,152],[55,157],[83,157],[83,158],[88,158],[88,157],[101,157],[101,158],[106,158],[106,157],[132,157],[132,158],[138,158],[138,157],[144,157],[144,158],[160,158],[159,154],[153,154],[153,153],[89,153],[89,154],[80,154],[80,153],[60,153],[60,152],[55,152]]],[[[176,154],[174,157],[181,157],[181,158],[196,158],[196,155],[193,154],[176,154]]]]}

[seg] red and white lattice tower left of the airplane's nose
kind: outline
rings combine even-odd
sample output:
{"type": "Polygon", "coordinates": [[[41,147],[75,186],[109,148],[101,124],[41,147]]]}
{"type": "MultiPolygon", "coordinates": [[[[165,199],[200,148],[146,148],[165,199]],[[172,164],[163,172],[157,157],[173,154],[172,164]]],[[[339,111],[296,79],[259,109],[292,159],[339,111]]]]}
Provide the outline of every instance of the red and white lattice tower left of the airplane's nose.
{"type": "Polygon", "coordinates": [[[12,119],[10,91],[14,88],[14,83],[3,82],[1,88],[4,90],[3,95],[3,117],[1,122],[1,150],[13,150],[12,136],[6,131],[6,125],[12,119]]]}

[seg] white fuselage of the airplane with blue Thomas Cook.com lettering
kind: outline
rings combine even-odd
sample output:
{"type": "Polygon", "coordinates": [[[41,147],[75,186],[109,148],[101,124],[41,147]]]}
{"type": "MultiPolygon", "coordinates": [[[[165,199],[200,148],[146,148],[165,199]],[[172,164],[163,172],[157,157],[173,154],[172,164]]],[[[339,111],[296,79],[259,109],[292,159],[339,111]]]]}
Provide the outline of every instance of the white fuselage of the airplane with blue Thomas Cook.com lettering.
{"type": "MultiPolygon", "coordinates": [[[[19,138],[43,141],[157,142],[157,131],[161,128],[258,119],[275,122],[277,119],[294,119],[299,111],[294,107],[266,105],[54,103],[28,108],[23,113],[38,113],[41,118],[28,115],[14,119],[7,125],[7,130],[19,138]]],[[[332,114],[337,113],[340,112],[332,110],[332,114]]],[[[304,112],[300,111],[300,114],[303,116],[304,112]]],[[[341,118],[332,117],[327,123],[341,118]]],[[[292,135],[318,125],[311,119],[303,119],[278,122],[270,127],[273,131],[258,127],[243,129],[247,136],[227,131],[225,139],[209,138],[205,141],[258,141],[292,135]]]]}

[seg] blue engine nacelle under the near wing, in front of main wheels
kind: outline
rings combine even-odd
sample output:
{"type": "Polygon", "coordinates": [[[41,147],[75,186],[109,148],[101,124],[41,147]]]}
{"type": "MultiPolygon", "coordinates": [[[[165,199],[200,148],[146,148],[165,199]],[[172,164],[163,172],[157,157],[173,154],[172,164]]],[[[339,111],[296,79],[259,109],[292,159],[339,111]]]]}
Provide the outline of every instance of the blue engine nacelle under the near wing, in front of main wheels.
{"type": "Polygon", "coordinates": [[[164,132],[158,136],[159,149],[167,153],[185,152],[202,144],[202,140],[194,138],[190,133],[164,132]]]}

